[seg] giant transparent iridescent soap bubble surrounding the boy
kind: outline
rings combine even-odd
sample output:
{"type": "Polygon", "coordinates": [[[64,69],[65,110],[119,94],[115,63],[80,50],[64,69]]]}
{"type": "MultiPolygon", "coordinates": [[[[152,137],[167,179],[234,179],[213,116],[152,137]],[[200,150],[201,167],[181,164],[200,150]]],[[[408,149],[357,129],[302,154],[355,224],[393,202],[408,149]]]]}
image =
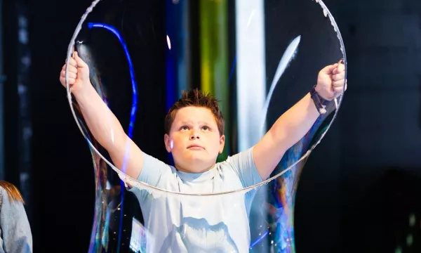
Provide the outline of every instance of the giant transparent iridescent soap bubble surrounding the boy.
{"type": "Polygon", "coordinates": [[[88,252],[295,252],[295,190],[343,94],[266,181],[250,148],[309,93],[323,67],[340,60],[346,66],[322,1],[94,1],[67,63],[74,50],[95,89],[81,104],[67,83],[95,171],[88,252]],[[225,118],[217,166],[200,174],[175,169],[175,153],[166,148],[178,143],[163,137],[166,112],[182,90],[195,88],[218,98],[225,118]],[[98,100],[107,106],[88,119],[98,100]]]}

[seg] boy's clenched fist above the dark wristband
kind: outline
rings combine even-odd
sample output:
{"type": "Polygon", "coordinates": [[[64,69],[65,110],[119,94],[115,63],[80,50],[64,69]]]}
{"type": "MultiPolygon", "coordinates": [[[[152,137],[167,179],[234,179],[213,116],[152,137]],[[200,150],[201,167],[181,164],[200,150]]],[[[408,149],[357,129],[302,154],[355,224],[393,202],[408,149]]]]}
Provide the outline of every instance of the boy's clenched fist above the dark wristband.
{"type": "Polygon", "coordinates": [[[339,63],[328,65],[319,72],[315,89],[322,98],[332,100],[342,94],[344,86],[346,91],[345,65],[340,60],[339,63]]]}

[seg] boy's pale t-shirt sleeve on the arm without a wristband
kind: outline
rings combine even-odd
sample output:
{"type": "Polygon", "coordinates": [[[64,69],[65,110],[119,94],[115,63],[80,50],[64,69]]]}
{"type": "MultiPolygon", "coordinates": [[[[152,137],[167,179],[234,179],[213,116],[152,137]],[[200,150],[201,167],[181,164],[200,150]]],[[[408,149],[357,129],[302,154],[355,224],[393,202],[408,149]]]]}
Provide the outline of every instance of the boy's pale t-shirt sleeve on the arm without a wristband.
{"type": "MultiPolygon", "coordinates": [[[[138,176],[138,181],[147,183],[149,186],[159,187],[162,181],[169,180],[171,176],[172,170],[168,164],[161,162],[151,155],[143,153],[142,170],[138,176]]],[[[135,193],[139,201],[147,200],[147,190],[140,190],[136,187],[132,187],[128,190],[135,193]]]]}

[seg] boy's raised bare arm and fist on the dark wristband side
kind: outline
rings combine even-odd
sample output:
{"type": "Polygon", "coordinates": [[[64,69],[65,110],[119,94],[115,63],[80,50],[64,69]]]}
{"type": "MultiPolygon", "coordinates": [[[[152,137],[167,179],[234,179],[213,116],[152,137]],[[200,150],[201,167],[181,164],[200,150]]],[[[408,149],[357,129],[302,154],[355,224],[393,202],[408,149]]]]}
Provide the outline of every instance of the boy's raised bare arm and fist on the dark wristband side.
{"type": "MultiPolygon", "coordinates": [[[[322,98],[332,100],[335,94],[342,93],[344,83],[345,65],[328,65],[319,72],[316,91],[322,98]]],[[[307,93],[276,120],[253,148],[253,160],[263,180],[272,174],[286,150],[307,134],[319,115],[310,93],[307,93]]]]}

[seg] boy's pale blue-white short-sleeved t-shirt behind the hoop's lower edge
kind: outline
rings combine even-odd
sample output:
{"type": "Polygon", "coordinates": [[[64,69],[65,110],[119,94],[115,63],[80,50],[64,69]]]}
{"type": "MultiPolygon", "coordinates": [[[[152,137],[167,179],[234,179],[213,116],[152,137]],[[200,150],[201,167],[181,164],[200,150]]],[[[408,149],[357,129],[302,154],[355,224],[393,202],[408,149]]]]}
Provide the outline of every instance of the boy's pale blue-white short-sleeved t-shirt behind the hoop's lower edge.
{"type": "MultiPolygon", "coordinates": [[[[200,174],[178,171],[144,155],[139,181],[177,193],[221,193],[260,183],[253,148],[200,174]]],[[[154,196],[131,188],[147,229],[147,252],[248,252],[255,191],[216,196],[154,196]]]]}

